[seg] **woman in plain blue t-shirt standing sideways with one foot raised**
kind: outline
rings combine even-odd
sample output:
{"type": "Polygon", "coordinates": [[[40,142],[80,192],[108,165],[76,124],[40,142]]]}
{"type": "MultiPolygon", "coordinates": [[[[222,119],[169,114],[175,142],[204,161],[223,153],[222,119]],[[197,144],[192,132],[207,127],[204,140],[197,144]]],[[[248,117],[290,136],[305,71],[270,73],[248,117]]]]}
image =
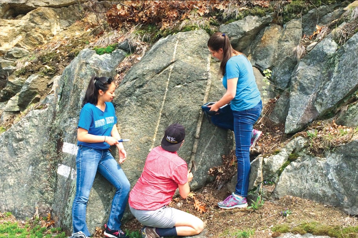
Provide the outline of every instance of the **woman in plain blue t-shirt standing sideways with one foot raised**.
{"type": "Polygon", "coordinates": [[[221,61],[220,72],[227,89],[222,98],[209,106],[218,111],[230,102],[236,142],[237,184],[235,192],[218,206],[224,209],[247,207],[248,179],[250,174],[250,142],[253,124],[262,110],[262,101],[255,76],[247,57],[234,50],[227,35],[217,32],[208,40],[209,51],[221,61]]]}

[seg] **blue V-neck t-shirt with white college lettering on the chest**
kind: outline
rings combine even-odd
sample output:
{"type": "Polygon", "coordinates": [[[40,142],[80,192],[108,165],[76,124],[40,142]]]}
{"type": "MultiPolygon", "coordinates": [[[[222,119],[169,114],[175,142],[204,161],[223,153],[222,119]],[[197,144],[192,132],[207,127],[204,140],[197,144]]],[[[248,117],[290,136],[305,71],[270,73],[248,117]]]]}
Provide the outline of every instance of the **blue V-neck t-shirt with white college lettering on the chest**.
{"type": "MultiPolygon", "coordinates": [[[[102,112],[100,108],[91,103],[86,103],[79,113],[78,127],[88,131],[88,134],[96,136],[111,136],[113,126],[117,123],[117,117],[111,102],[105,102],[106,108],[102,112]]],[[[87,143],[78,141],[77,145],[87,146],[98,150],[110,147],[106,142],[87,143]]]]}

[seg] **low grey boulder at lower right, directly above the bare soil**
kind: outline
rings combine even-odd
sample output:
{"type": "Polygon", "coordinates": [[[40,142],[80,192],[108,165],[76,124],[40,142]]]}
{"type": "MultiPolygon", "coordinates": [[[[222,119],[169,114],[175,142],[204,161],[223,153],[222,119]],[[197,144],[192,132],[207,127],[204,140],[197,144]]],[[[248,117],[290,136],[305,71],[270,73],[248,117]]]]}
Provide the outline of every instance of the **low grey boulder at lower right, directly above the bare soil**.
{"type": "Polygon", "coordinates": [[[358,140],[325,157],[303,155],[281,173],[272,198],[292,195],[358,214],[358,140]]]}

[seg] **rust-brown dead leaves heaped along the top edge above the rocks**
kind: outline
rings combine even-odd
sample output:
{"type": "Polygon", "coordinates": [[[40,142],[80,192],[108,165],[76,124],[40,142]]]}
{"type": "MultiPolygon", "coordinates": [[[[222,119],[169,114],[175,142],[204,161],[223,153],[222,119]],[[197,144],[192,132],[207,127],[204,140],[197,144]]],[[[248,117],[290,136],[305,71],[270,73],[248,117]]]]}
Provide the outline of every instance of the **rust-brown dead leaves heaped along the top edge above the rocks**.
{"type": "MultiPolygon", "coordinates": [[[[247,1],[123,1],[114,4],[106,13],[108,23],[113,29],[125,27],[130,29],[132,24],[154,24],[160,29],[175,26],[179,21],[190,19],[190,12],[196,11],[198,16],[215,15],[224,11],[229,4],[237,6],[269,7],[269,0],[247,1]]],[[[215,18],[215,16],[213,16],[215,18]]]]}

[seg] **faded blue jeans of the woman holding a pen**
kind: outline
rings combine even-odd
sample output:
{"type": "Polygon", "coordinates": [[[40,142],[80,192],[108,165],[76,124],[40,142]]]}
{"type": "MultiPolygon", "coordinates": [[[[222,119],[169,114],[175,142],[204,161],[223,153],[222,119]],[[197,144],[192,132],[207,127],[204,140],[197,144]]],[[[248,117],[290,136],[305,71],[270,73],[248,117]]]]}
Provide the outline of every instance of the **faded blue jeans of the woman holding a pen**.
{"type": "Polygon", "coordinates": [[[116,188],[107,226],[111,230],[120,230],[130,190],[129,181],[121,166],[109,150],[96,150],[86,146],[78,147],[76,165],[76,197],[72,207],[73,233],[82,231],[86,236],[90,236],[86,224],[86,207],[97,171],[116,188]]]}

